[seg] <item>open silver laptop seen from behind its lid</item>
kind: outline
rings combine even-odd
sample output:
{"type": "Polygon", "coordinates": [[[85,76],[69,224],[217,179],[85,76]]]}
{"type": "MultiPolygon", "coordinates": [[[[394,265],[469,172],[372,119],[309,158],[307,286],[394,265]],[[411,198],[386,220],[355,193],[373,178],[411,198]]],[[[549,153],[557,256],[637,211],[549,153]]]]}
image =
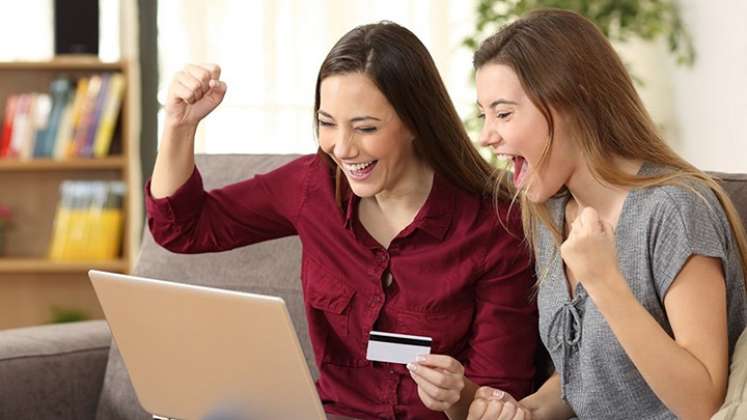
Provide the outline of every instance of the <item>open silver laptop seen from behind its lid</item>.
{"type": "Polygon", "coordinates": [[[281,298],[88,274],[154,418],[326,419],[281,298]]]}

